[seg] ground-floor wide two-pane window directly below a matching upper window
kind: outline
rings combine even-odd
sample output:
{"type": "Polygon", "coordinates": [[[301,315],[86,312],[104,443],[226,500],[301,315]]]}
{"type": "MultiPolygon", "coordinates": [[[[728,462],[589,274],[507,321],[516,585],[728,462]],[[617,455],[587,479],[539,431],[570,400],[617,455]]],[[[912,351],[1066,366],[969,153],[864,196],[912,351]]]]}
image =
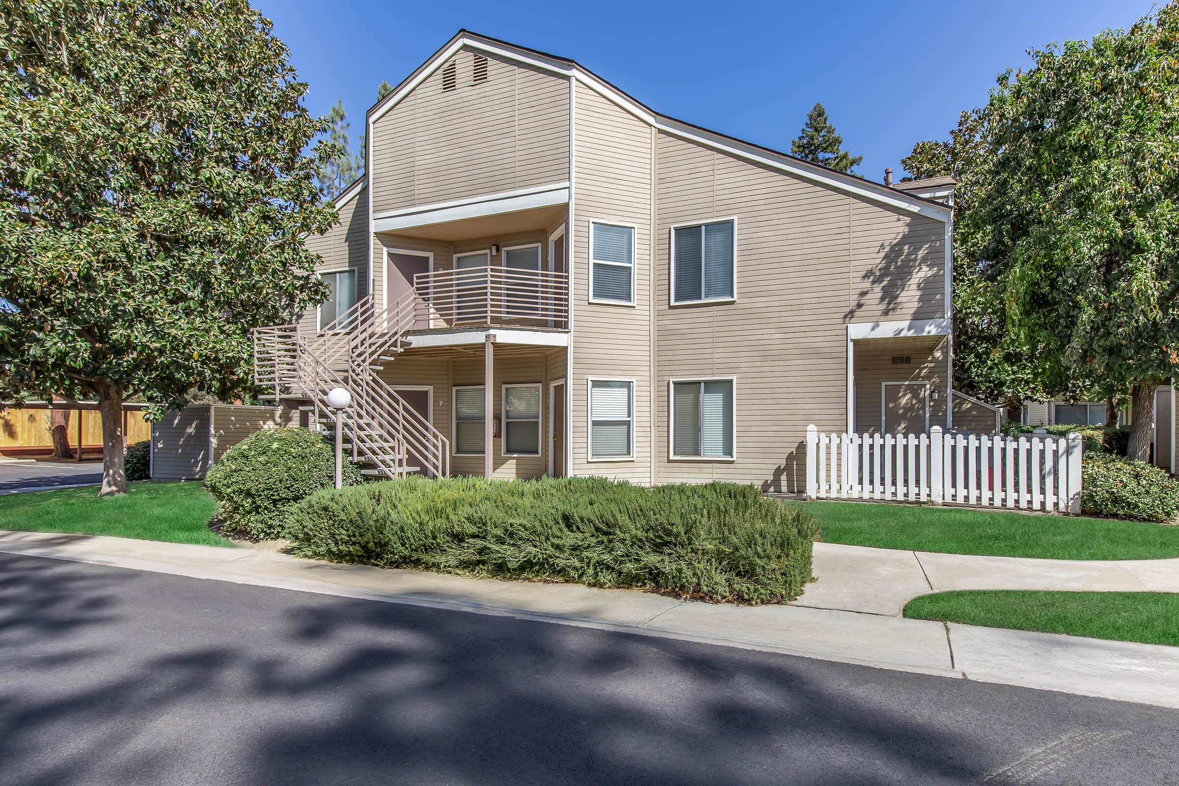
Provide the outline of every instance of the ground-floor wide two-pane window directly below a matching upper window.
{"type": "Polygon", "coordinates": [[[733,457],[733,381],[673,379],[672,458],[733,457]]]}

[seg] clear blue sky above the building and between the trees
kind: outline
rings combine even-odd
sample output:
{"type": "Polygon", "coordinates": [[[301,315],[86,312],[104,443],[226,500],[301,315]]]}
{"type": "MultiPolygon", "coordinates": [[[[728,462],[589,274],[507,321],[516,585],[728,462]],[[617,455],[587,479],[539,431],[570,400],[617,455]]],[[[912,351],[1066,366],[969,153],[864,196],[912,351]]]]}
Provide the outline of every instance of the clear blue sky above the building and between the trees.
{"type": "Polygon", "coordinates": [[[573,58],[665,114],[790,151],[816,101],[872,180],[944,138],[1025,49],[1128,27],[1153,0],[992,2],[393,2],[255,0],[320,114],[343,99],[354,144],[396,85],[460,27],[573,58]]]}

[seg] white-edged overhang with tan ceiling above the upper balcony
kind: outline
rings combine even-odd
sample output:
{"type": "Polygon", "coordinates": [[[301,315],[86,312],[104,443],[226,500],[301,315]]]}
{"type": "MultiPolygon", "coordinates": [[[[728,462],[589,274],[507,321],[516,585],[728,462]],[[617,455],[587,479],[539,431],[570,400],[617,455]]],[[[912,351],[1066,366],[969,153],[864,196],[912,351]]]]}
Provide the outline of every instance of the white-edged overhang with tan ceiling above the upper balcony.
{"type": "Polygon", "coordinates": [[[387,211],[373,217],[373,231],[434,240],[506,235],[560,222],[568,203],[569,184],[553,183],[387,211]]]}

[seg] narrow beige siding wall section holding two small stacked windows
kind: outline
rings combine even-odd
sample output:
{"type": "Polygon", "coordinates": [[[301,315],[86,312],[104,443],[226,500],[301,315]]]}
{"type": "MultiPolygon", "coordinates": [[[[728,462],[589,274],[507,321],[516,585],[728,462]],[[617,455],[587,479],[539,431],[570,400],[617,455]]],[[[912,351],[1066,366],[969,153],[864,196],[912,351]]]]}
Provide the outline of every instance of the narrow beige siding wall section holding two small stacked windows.
{"type": "Polygon", "coordinates": [[[651,482],[651,127],[578,85],[574,136],[573,475],[651,482]],[[590,222],[635,226],[634,306],[590,303],[590,222]],[[634,458],[588,460],[588,379],[634,379],[634,458]]]}

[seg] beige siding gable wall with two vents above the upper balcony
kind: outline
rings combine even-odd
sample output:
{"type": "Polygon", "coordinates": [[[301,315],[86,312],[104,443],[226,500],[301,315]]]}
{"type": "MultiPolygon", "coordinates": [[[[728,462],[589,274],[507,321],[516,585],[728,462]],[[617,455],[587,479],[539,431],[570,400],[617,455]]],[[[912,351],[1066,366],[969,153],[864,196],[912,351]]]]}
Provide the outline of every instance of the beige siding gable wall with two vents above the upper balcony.
{"type": "Polygon", "coordinates": [[[447,61],[454,90],[443,66],[374,124],[374,213],[568,179],[568,79],[487,55],[476,84],[474,57],[447,61]]]}

